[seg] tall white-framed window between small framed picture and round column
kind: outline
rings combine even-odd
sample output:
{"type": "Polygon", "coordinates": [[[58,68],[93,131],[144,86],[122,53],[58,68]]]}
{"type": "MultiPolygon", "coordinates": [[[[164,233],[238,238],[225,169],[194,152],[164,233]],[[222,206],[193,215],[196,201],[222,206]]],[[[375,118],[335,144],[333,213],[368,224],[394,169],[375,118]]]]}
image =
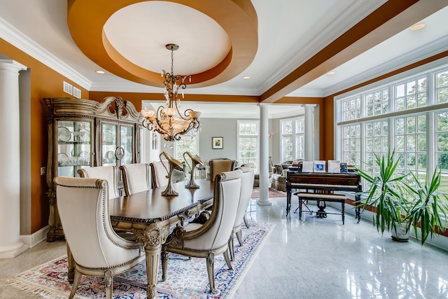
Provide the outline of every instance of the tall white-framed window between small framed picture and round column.
{"type": "Polygon", "coordinates": [[[258,171],[259,123],[253,120],[238,120],[238,161],[240,164],[254,163],[258,171]]]}

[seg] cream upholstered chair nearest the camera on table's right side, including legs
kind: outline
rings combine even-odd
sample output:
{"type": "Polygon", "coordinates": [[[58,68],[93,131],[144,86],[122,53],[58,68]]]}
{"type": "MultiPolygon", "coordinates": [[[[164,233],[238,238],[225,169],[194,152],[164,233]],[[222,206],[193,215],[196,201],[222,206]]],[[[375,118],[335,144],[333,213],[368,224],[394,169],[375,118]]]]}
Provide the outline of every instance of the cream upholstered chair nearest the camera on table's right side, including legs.
{"type": "Polygon", "coordinates": [[[174,228],[162,245],[162,280],[167,277],[168,253],[205,258],[211,292],[215,291],[214,257],[223,253],[229,269],[228,248],[241,193],[241,170],[223,172],[214,182],[214,204],[211,216],[204,224],[188,223],[174,228]]]}

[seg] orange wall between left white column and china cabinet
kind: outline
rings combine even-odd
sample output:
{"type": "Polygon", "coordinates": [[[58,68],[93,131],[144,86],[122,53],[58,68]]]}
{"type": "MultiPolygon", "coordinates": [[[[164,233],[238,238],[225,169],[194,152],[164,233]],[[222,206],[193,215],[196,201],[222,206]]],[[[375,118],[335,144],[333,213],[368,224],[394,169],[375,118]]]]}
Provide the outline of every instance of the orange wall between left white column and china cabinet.
{"type": "Polygon", "coordinates": [[[61,74],[46,67],[33,57],[23,53],[18,48],[0,39],[0,53],[10,59],[20,62],[30,69],[31,76],[31,233],[48,225],[48,197],[45,194],[48,187],[45,176],[41,176],[40,168],[47,166],[48,133],[47,108],[43,97],[67,97],[63,92],[63,83],[66,81],[81,90],[83,97],[88,95],[87,90],[65,78],[61,74]]]}

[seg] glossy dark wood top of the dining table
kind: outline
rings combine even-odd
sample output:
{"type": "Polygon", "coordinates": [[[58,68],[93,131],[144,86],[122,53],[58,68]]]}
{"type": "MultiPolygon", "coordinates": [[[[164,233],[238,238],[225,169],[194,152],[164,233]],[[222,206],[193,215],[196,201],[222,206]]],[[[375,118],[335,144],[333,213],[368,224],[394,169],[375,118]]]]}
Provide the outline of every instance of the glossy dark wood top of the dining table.
{"type": "Polygon", "coordinates": [[[111,221],[131,223],[152,223],[165,221],[173,216],[204,204],[214,197],[214,184],[207,180],[195,180],[200,188],[185,188],[188,181],[174,183],[173,188],[179,195],[164,196],[166,186],[134,193],[129,196],[109,200],[111,221]]]}

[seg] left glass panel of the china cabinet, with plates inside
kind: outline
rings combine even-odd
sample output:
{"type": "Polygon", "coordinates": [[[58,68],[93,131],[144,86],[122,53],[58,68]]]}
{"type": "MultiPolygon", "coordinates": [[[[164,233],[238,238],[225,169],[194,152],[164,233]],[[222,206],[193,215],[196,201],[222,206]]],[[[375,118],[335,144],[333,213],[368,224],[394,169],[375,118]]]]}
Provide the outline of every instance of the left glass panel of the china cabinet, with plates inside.
{"type": "Polygon", "coordinates": [[[57,175],[78,176],[80,168],[90,167],[92,125],[87,121],[57,121],[57,175]]]}

